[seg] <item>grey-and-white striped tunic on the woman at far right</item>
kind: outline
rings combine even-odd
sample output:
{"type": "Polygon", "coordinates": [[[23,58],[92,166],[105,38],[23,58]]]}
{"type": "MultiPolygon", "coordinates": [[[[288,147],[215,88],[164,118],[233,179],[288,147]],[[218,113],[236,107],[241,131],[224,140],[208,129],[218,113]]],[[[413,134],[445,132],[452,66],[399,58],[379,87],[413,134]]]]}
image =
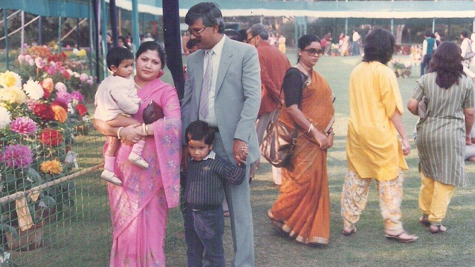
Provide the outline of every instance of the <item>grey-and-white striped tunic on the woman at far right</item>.
{"type": "Polygon", "coordinates": [[[424,95],[428,100],[427,118],[417,124],[419,169],[441,183],[467,186],[463,108],[474,107],[474,84],[462,76],[458,85],[443,89],[436,77],[436,72],[420,77],[411,95],[416,101],[424,95]]]}

